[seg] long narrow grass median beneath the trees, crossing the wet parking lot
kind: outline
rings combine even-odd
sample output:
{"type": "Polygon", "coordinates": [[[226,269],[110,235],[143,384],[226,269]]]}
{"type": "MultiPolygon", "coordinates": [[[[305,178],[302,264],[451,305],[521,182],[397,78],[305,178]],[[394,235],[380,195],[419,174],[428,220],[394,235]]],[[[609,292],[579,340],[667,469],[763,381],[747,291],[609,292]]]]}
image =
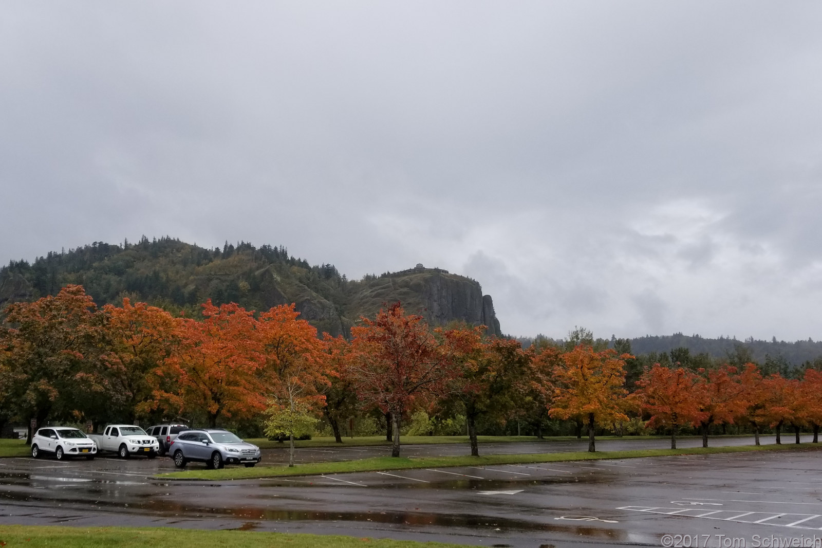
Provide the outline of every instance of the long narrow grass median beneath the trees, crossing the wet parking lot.
{"type": "Polygon", "coordinates": [[[638,449],[630,451],[598,451],[597,453],[532,453],[524,455],[485,455],[480,457],[371,457],[354,461],[307,462],[295,467],[257,465],[254,468],[223,468],[222,470],[176,471],[155,476],[166,480],[244,480],[279,476],[314,476],[360,471],[410,470],[413,468],[475,467],[494,464],[526,464],[530,462],[568,462],[607,458],[670,457],[711,453],[744,453],[748,451],[815,450],[820,444],[739,445],[687,449],[638,449]]]}

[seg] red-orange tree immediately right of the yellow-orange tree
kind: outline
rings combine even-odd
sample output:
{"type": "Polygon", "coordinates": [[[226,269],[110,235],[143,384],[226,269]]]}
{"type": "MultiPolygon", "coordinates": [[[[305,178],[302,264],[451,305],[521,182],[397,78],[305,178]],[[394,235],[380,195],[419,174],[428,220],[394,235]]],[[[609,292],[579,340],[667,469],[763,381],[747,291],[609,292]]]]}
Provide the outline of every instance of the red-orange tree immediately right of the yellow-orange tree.
{"type": "Polygon", "coordinates": [[[681,425],[702,420],[694,389],[699,378],[684,368],[668,369],[659,364],[645,371],[635,393],[642,409],[649,413],[649,426],[671,429],[671,448],[677,448],[677,434],[681,425]]]}

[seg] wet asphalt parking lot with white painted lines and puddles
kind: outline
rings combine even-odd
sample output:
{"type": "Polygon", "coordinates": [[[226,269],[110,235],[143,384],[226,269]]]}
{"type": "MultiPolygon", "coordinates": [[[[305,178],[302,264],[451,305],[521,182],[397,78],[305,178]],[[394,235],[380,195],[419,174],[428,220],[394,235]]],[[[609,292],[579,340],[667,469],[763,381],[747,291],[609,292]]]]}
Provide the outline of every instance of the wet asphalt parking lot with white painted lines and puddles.
{"type": "MultiPolygon", "coordinates": [[[[792,439],[785,438],[783,443],[792,439]]],[[[773,441],[773,437],[763,437],[763,444],[773,441]]],[[[746,438],[711,440],[712,445],[750,443],[746,438]]],[[[667,444],[664,439],[603,440],[598,448],[664,448],[667,444]]],[[[680,445],[698,446],[701,441],[686,439],[680,445]]],[[[481,444],[480,448],[489,454],[580,447],[587,445],[548,442],[481,444]]],[[[406,456],[466,451],[464,444],[403,448],[406,456]]],[[[386,448],[312,448],[297,453],[300,461],[374,454],[386,454],[386,448]]],[[[266,450],[264,458],[283,462],[285,455],[278,448],[266,450]]],[[[151,477],[172,470],[168,458],[0,459],[0,524],[317,532],[534,548],[723,548],[770,546],[774,538],[802,542],[803,538],[822,537],[822,453],[815,451],[247,481],[158,481],[151,477]]]]}

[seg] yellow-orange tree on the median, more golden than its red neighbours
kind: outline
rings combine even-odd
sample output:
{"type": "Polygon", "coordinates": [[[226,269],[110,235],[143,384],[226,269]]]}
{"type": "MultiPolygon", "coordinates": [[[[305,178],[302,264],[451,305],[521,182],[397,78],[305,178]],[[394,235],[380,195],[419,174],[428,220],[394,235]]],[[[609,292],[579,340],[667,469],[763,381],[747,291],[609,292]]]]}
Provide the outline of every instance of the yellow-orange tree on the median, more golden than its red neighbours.
{"type": "Polygon", "coordinates": [[[579,345],[561,355],[554,369],[555,399],[551,416],[575,419],[588,424],[588,450],[596,451],[594,428],[598,422],[628,420],[625,360],[612,349],[594,351],[579,345]]]}

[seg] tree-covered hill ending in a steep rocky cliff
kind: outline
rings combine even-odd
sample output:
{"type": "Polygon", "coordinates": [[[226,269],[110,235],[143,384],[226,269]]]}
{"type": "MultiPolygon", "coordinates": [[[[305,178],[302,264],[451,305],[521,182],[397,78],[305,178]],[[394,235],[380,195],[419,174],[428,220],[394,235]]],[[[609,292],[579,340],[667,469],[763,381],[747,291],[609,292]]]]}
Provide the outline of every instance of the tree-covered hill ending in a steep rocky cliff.
{"type": "Polygon", "coordinates": [[[54,295],[67,284],[84,286],[97,304],[120,304],[128,297],[193,316],[208,299],[254,310],[295,303],[302,318],[335,336],[348,336],[358,318],[399,300],[434,325],[482,323],[489,333],[501,334],[491,297],[483,296],[479,283],[438,268],[418,265],[355,281],[334,265],[294,258],[283,246],[226,242],[210,249],[170,237],[94,242],[32,263],[12,261],[0,268],[0,310],[10,302],[54,295]]]}

